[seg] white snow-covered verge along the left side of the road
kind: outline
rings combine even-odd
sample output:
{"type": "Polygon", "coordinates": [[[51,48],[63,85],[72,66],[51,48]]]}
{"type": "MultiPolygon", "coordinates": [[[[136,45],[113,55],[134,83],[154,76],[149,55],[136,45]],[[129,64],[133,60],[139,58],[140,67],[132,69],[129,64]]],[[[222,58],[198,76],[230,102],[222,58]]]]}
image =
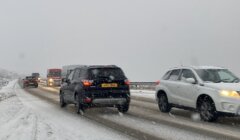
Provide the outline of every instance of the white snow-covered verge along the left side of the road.
{"type": "Polygon", "coordinates": [[[0,97],[0,140],[129,139],[26,93],[16,80],[2,88],[0,97]]]}

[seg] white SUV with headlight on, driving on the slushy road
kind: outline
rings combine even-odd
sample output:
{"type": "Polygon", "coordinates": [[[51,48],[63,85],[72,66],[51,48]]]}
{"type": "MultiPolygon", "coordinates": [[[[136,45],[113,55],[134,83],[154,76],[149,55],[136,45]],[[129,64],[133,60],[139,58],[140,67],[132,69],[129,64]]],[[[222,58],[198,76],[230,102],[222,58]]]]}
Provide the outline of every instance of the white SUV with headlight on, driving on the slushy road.
{"type": "Polygon", "coordinates": [[[240,79],[220,67],[179,67],[169,70],[156,87],[160,111],[172,107],[197,110],[204,121],[240,115],[240,79]]]}

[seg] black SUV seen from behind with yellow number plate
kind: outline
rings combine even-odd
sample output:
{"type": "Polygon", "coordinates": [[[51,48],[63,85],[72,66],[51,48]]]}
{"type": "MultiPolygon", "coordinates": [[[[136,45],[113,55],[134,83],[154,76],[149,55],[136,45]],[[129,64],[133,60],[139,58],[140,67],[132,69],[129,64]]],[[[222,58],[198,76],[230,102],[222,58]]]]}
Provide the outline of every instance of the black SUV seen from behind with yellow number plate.
{"type": "Polygon", "coordinates": [[[75,104],[80,113],[89,107],[129,109],[129,81],[117,66],[84,66],[74,69],[60,89],[60,106],[75,104]]]}

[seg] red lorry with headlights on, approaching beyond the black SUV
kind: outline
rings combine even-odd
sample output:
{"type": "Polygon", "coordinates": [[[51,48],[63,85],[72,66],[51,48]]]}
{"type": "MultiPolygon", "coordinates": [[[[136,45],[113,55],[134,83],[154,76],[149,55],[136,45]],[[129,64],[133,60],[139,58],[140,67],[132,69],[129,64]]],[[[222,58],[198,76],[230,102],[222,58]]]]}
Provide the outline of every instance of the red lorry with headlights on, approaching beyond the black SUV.
{"type": "Polygon", "coordinates": [[[47,86],[61,85],[62,69],[48,69],[47,70],[47,86]]]}

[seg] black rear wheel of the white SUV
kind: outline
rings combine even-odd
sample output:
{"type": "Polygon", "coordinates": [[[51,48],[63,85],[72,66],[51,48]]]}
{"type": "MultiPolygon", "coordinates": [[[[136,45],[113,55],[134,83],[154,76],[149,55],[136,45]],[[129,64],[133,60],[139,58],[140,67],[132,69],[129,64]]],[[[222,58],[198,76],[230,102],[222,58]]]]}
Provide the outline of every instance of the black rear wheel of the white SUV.
{"type": "Polygon", "coordinates": [[[165,94],[158,95],[158,107],[161,112],[168,113],[171,111],[171,106],[168,103],[168,98],[165,94]]]}

